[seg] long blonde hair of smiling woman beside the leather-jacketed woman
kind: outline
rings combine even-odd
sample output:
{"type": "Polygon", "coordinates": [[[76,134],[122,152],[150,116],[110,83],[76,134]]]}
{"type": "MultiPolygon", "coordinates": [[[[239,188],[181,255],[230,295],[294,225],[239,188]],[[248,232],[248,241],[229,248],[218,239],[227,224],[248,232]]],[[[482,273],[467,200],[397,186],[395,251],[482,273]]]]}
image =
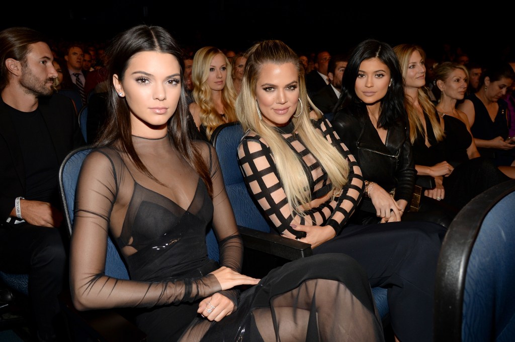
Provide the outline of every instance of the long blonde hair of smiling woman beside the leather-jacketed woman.
{"type": "MultiPolygon", "coordinates": [[[[413,44],[400,44],[393,47],[393,51],[397,55],[399,59],[399,64],[402,69],[402,77],[404,81],[406,80],[406,74],[408,72],[409,58],[413,54],[413,52],[418,51],[422,59],[425,61],[425,52],[424,50],[418,46],[413,44]]],[[[438,121],[438,113],[436,112],[436,107],[431,102],[431,99],[427,96],[427,90],[425,87],[418,88],[417,91],[417,100],[422,107],[422,110],[427,113],[429,120],[431,122],[431,126],[433,127],[433,132],[435,133],[435,137],[437,141],[441,141],[444,138],[443,130],[438,121]]],[[[408,113],[409,120],[409,140],[411,143],[415,142],[415,139],[419,134],[423,134],[424,126],[422,119],[417,113],[417,110],[411,103],[411,100],[408,99],[407,96],[404,97],[404,106],[406,107],[406,112],[408,113]]]]}

